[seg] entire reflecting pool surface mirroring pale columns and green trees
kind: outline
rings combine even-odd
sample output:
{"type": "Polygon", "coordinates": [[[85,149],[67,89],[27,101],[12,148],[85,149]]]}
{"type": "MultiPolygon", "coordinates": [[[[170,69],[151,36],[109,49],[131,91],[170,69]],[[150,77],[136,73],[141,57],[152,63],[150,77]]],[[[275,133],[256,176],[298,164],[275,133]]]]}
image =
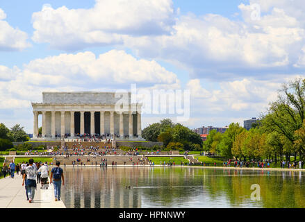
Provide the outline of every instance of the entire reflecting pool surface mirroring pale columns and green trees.
{"type": "Polygon", "coordinates": [[[62,197],[72,208],[305,207],[304,172],[181,167],[64,171],[62,197]],[[261,201],[250,199],[253,184],[261,187],[261,201]]]}

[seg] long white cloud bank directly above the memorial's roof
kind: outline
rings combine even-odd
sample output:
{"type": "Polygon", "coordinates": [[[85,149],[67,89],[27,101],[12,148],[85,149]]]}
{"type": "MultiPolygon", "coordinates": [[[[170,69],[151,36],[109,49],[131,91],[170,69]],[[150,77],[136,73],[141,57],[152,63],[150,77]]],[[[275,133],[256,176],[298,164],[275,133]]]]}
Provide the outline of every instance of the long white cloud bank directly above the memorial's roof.
{"type": "Polygon", "coordinates": [[[137,60],[112,50],[95,57],[87,51],[32,60],[22,69],[0,66],[0,107],[28,108],[43,91],[91,91],[179,85],[176,74],[154,60],[137,60]]]}

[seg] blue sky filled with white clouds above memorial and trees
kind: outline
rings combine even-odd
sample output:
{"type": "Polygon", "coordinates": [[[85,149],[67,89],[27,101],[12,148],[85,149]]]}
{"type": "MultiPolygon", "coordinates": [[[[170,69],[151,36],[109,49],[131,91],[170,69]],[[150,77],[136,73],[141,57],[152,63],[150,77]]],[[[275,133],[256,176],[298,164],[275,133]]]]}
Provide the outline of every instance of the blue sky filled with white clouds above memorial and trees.
{"type": "Polygon", "coordinates": [[[0,2],[0,121],[28,133],[43,91],[131,84],[190,90],[190,128],[243,124],[304,68],[304,0],[0,2]]]}

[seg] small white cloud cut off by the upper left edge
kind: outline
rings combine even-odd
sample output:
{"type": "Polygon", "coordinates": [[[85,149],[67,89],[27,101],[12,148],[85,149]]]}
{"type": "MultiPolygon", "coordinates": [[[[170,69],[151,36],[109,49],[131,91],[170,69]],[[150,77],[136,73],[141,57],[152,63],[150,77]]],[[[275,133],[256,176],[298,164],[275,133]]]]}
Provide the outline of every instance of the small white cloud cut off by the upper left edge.
{"type": "Polygon", "coordinates": [[[0,8],[0,51],[22,50],[31,46],[27,42],[28,35],[10,26],[4,19],[6,13],[0,8]]]}

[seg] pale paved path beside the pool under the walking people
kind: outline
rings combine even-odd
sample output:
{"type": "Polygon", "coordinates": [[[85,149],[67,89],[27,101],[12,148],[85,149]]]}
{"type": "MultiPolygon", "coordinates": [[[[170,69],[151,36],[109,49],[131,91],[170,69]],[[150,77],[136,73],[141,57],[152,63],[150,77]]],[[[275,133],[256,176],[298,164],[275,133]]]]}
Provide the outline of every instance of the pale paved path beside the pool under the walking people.
{"type": "Polygon", "coordinates": [[[54,200],[53,184],[49,189],[40,189],[38,184],[33,203],[28,203],[22,176],[15,175],[14,179],[0,179],[0,208],[65,208],[65,205],[61,200],[54,200]]]}

